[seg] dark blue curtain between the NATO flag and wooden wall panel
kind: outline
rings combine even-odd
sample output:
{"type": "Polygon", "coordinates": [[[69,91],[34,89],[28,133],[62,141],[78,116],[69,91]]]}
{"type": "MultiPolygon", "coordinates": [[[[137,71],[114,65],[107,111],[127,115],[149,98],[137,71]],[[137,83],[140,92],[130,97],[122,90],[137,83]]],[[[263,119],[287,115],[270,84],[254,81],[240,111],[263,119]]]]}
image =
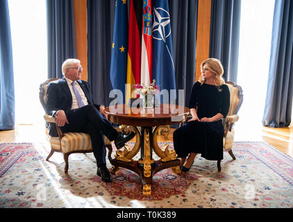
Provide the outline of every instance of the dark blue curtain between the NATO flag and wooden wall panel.
{"type": "Polygon", "coordinates": [[[185,90],[185,105],[195,80],[197,6],[198,0],[169,0],[176,89],[185,90]]]}

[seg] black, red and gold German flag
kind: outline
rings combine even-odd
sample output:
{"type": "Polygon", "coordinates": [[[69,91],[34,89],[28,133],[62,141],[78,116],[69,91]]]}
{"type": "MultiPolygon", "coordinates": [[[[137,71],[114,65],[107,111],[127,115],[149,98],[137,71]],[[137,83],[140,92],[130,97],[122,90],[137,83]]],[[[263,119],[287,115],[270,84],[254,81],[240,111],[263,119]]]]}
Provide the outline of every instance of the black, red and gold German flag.
{"type": "MultiPolygon", "coordinates": [[[[142,1],[131,0],[129,7],[128,62],[126,83],[126,103],[131,98],[131,85],[140,83],[142,51],[142,1]]],[[[136,96],[133,96],[136,98],[136,96]]]]}

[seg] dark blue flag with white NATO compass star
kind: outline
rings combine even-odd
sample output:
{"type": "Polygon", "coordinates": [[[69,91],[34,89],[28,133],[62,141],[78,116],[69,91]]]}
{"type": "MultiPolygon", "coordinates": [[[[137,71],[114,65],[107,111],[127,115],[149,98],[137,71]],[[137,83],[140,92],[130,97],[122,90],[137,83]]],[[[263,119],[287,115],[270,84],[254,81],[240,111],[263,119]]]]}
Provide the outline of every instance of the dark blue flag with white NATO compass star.
{"type": "Polygon", "coordinates": [[[153,79],[169,94],[176,89],[168,0],[153,4],[153,79]]]}

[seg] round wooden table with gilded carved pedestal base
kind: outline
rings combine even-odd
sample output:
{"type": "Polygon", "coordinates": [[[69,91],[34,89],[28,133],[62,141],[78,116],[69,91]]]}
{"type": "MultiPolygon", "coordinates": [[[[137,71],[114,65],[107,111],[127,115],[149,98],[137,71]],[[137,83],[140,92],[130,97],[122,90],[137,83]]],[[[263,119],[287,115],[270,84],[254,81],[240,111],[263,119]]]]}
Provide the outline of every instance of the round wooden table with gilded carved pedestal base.
{"type": "Polygon", "coordinates": [[[105,109],[108,120],[122,125],[122,133],[135,132],[135,145],[133,148],[125,145],[116,151],[115,158],[108,153],[108,159],[114,166],[111,173],[117,173],[119,167],[124,167],[137,173],[142,179],[142,192],[144,196],[151,195],[153,176],[161,171],[173,167],[174,173],[180,173],[180,160],[174,150],[169,150],[169,145],[162,148],[158,146],[157,135],[169,135],[169,125],[185,121],[190,109],[180,105],[160,104],[153,110],[131,108],[126,104],[113,105],[105,109]],[[140,159],[133,157],[140,151],[140,159]],[[160,157],[153,160],[153,151],[160,157]]]}

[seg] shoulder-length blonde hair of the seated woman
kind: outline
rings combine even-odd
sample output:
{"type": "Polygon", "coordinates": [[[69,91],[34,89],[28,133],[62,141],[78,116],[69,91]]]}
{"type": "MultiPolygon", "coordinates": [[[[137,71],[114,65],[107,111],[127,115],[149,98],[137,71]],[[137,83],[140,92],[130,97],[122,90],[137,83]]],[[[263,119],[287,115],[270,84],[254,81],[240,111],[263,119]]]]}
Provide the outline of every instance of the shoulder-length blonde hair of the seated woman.
{"type": "MultiPolygon", "coordinates": [[[[208,67],[208,69],[212,72],[212,74],[215,74],[214,83],[215,83],[215,86],[217,86],[217,88],[219,88],[219,86],[225,83],[225,80],[223,78],[224,69],[223,69],[223,66],[221,65],[220,60],[217,60],[216,58],[208,58],[207,60],[204,60],[203,62],[201,62],[201,70],[203,70],[204,65],[208,67]]],[[[204,80],[203,76],[201,75],[199,77],[199,83],[201,83],[202,85],[205,82],[206,80],[204,80]]]]}

